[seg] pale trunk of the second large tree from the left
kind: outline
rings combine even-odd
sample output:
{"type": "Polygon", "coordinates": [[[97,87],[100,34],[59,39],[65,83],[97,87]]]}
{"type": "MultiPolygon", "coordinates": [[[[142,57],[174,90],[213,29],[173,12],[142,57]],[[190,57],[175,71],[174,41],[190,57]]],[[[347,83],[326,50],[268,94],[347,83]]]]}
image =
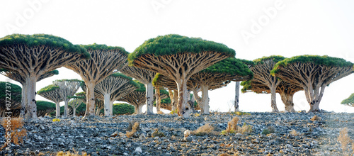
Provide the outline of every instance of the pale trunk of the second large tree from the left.
{"type": "Polygon", "coordinates": [[[86,90],[86,112],[84,118],[95,116],[95,83],[86,83],[86,90]]]}

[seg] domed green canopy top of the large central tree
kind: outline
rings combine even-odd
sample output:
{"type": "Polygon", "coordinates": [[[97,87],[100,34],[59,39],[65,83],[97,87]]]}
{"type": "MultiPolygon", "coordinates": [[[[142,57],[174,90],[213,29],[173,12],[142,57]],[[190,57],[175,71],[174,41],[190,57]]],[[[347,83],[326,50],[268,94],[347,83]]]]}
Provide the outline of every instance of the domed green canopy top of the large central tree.
{"type": "Polygon", "coordinates": [[[145,54],[176,55],[182,52],[223,52],[229,56],[235,55],[235,50],[221,43],[202,40],[201,38],[188,38],[182,35],[170,34],[146,40],[134,52],[130,53],[128,60],[134,61],[137,57],[145,54]]]}

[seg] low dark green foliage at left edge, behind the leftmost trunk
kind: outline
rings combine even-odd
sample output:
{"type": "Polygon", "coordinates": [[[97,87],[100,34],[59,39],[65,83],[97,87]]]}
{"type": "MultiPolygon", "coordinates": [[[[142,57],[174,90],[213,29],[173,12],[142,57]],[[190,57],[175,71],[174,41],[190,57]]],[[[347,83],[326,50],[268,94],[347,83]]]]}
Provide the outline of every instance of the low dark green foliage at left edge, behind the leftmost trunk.
{"type": "Polygon", "coordinates": [[[11,97],[11,101],[13,100],[13,101],[21,102],[22,88],[17,84],[12,84],[10,82],[0,82],[0,90],[1,90],[0,99],[6,99],[6,97],[11,97]],[[10,96],[8,96],[9,94],[10,96]]]}

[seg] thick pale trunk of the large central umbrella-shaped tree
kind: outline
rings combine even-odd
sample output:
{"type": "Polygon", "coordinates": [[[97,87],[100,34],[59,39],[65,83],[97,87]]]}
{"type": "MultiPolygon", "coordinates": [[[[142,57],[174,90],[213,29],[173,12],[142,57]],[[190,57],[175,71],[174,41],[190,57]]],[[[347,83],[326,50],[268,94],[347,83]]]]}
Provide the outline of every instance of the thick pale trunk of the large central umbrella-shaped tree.
{"type": "Polygon", "coordinates": [[[178,87],[178,116],[183,116],[183,118],[189,118],[190,112],[185,109],[188,102],[188,90],[187,90],[187,80],[181,79],[177,81],[178,87]],[[188,111],[188,112],[187,112],[188,111]]]}

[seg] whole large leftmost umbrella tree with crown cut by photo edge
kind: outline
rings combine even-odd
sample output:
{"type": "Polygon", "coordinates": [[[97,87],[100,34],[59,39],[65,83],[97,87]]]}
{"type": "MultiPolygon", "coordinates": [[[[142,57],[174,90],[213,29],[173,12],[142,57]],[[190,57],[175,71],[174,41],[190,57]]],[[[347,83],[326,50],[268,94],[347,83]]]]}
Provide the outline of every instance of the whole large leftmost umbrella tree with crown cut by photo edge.
{"type": "Polygon", "coordinates": [[[35,84],[46,72],[88,59],[89,53],[54,35],[6,35],[0,38],[0,68],[17,72],[25,80],[25,118],[37,118],[35,84]]]}

